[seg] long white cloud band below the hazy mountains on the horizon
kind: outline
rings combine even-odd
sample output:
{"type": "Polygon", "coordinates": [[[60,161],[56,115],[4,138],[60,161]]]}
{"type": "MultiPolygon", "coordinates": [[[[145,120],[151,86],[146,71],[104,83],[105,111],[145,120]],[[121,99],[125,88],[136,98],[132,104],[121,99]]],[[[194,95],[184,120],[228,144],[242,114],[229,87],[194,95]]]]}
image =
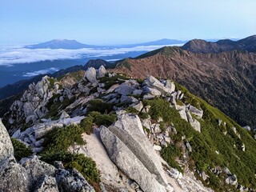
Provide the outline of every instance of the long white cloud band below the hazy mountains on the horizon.
{"type": "MultiPolygon", "coordinates": [[[[175,46],[175,45],[170,45],[175,46]]],[[[181,46],[176,45],[176,46],[181,46]]],[[[38,49],[30,50],[21,46],[1,46],[0,47],[0,66],[12,66],[17,63],[41,62],[56,59],[75,59],[91,58],[102,56],[113,56],[115,54],[126,54],[132,51],[150,51],[161,48],[162,46],[135,46],[132,48],[116,49],[80,49],[80,50],[51,50],[38,49]]]]}

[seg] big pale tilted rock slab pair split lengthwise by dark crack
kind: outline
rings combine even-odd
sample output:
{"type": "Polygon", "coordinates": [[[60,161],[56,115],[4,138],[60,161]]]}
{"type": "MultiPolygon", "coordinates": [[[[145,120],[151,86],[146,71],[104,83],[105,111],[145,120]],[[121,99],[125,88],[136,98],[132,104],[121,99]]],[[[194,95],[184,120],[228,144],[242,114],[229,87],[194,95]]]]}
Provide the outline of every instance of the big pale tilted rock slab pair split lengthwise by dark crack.
{"type": "Polygon", "coordinates": [[[100,134],[112,161],[143,191],[166,191],[165,187],[171,189],[161,161],[146,139],[137,115],[120,115],[114,126],[102,127],[100,134]],[[152,175],[156,175],[156,179],[152,175]]]}

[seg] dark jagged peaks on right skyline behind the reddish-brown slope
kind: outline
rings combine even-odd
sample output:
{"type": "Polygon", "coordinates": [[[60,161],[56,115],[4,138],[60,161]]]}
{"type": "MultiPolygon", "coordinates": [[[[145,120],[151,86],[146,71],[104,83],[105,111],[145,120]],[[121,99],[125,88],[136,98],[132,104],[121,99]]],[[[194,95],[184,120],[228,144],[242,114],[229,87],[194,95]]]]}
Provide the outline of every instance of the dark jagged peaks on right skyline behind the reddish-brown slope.
{"type": "Polygon", "coordinates": [[[238,41],[230,39],[218,40],[218,42],[206,42],[201,39],[193,39],[182,46],[183,50],[190,50],[194,53],[221,53],[229,50],[244,50],[256,52],[256,35],[243,38],[238,41]]]}

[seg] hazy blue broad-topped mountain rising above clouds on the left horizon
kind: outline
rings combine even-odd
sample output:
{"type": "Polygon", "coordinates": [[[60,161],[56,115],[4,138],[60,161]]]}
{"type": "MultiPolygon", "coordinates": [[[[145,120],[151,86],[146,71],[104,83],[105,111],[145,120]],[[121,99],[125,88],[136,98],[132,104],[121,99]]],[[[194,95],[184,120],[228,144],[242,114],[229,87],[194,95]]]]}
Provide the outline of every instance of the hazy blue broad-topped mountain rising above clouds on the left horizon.
{"type": "Polygon", "coordinates": [[[28,49],[66,49],[66,50],[78,50],[82,48],[98,48],[99,46],[91,46],[82,44],[75,40],[67,39],[54,39],[50,42],[42,42],[35,45],[25,46],[28,49]]]}

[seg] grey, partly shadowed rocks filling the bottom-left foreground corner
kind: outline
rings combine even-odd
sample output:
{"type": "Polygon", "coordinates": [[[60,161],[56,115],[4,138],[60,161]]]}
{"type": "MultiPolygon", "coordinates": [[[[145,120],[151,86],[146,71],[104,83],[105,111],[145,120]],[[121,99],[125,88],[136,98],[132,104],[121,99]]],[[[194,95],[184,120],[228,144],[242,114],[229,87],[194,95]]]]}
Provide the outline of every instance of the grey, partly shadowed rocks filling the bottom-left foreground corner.
{"type": "Polygon", "coordinates": [[[1,191],[94,191],[78,170],[65,170],[61,162],[56,162],[54,167],[40,161],[36,155],[17,162],[10,136],[1,120],[0,141],[1,191]]]}

